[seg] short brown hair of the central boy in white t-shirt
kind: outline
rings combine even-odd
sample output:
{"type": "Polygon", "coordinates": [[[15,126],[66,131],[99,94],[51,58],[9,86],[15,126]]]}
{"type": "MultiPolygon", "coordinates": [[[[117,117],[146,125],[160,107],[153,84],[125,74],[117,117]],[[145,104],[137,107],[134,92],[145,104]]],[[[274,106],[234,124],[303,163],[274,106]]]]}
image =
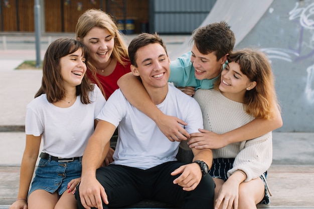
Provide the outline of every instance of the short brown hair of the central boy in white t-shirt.
{"type": "Polygon", "coordinates": [[[160,44],[165,49],[166,55],[168,56],[166,45],[164,41],[162,40],[162,38],[160,38],[160,36],[157,33],[155,34],[142,33],[138,35],[137,37],[135,37],[128,46],[128,54],[129,54],[131,64],[137,67],[136,52],[139,48],[144,47],[148,44],[155,44],[155,43],[160,44]]]}

